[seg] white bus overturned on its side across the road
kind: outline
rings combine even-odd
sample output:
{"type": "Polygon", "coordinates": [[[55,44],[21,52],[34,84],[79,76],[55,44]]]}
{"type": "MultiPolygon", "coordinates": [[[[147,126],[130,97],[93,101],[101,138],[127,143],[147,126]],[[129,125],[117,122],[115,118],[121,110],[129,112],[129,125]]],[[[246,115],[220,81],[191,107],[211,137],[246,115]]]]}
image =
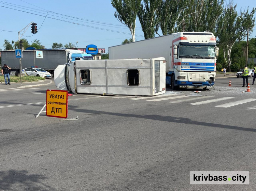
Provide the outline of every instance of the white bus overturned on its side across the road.
{"type": "Polygon", "coordinates": [[[166,92],[165,58],[76,60],[54,71],[55,86],[73,93],[159,95],[166,92]]]}

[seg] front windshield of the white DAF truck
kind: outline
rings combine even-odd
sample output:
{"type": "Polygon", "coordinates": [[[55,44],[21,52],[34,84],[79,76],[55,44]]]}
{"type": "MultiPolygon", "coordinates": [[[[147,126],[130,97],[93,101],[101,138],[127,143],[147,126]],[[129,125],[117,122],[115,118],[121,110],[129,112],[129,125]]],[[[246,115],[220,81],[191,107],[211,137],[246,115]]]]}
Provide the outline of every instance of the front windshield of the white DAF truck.
{"type": "Polygon", "coordinates": [[[180,45],[180,58],[214,58],[214,45],[180,45]]]}

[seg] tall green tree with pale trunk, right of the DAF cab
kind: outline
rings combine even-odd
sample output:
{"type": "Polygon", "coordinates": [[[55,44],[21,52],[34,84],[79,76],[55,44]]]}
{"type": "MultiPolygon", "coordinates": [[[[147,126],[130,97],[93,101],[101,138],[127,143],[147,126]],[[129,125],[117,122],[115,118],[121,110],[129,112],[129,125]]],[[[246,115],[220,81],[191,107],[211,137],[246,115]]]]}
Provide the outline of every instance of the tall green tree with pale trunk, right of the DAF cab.
{"type": "MultiPolygon", "coordinates": [[[[231,50],[234,43],[238,40],[244,39],[247,35],[247,30],[252,32],[251,27],[255,25],[255,17],[253,17],[256,9],[253,8],[252,12],[241,11],[240,15],[236,11],[237,5],[233,5],[231,1],[224,9],[221,17],[217,23],[218,41],[223,49],[224,59],[228,65],[228,71],[231,71],[231,50]]],[[[241,64],[240,64],[241,65],[241,64]]],[[[242,67],[242,65],[241,65],[242,67]]]]}

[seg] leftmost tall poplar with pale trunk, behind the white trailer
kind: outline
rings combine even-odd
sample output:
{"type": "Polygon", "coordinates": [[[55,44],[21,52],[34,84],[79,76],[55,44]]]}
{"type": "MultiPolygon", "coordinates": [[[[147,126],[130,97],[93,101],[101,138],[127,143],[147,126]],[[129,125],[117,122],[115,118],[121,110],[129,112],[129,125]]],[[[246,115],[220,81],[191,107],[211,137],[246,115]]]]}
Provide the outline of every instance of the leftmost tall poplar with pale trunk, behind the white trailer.
{"type": "Polygon", "coordinates": [[[136,17],[140,2],[141,0],[111,0],[112,6],[116,9],[114,15],[129,28],[132,42],[135,41],[136,17]]]}

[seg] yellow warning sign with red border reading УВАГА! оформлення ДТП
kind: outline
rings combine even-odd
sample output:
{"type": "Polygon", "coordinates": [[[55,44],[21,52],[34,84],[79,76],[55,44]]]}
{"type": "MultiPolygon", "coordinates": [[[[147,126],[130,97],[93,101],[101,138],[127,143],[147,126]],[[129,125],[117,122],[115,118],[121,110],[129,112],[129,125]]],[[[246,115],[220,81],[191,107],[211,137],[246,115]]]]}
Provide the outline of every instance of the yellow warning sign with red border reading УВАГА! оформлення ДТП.
{"type": "Polygon", "coordinates": [[[68,117],[68,91],[46,90],[46,116],[68,117]]]}

